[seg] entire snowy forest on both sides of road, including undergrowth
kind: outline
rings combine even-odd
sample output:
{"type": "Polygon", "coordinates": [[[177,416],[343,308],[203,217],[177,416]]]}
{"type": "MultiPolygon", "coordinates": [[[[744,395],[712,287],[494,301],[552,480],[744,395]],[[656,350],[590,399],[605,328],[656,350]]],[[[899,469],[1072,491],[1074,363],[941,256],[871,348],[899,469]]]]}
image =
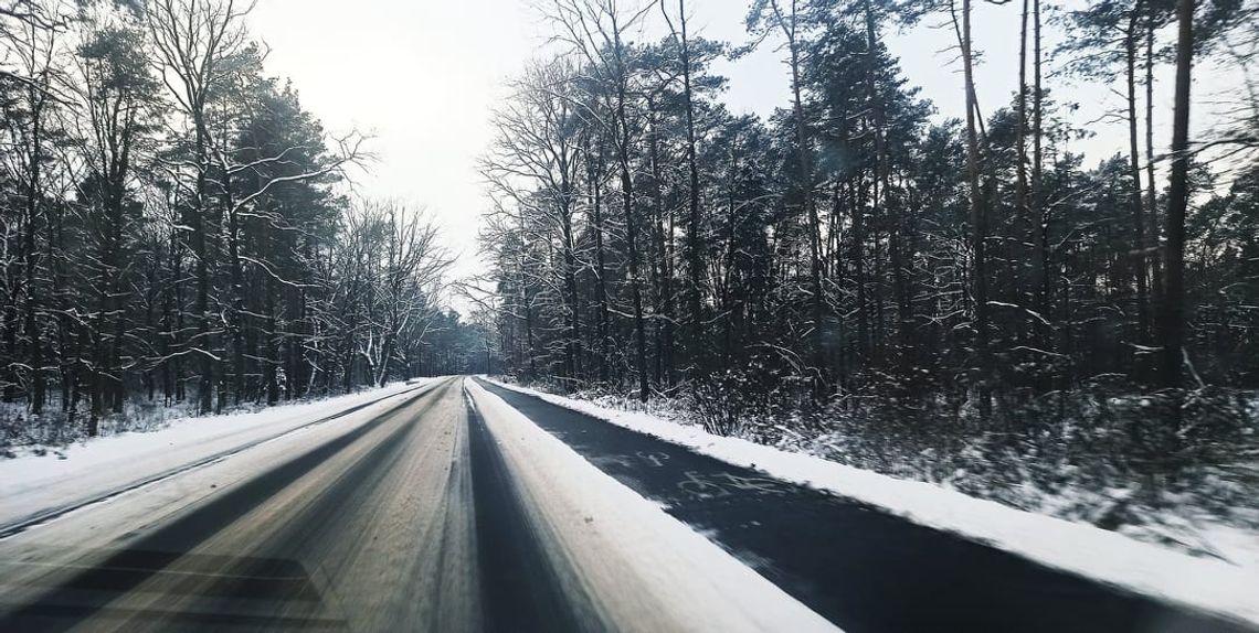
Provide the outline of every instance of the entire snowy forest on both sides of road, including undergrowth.
{"type": "Polygon", "coordinates": [[[691,5],[530,5],[454,279],[252,3],[0,0],[0,450],[487,373],[1156,540],[1259,526],[1259,4],[754,0],[733,43],[691,5]],[[958,118],[889,48],[924,25],[958,118]],[[731,112],[715,68],[764,50],[783,103],[731,112]]]}

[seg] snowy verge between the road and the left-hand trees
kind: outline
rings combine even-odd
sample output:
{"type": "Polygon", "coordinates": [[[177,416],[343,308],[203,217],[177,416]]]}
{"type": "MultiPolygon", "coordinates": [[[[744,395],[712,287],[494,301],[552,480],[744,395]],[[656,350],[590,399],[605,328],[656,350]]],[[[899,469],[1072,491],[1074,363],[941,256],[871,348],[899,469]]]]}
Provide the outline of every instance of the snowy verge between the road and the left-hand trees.
{"type": "MultiPolygon", "coordinates": [[[[251,413],[181,418],[159,431],[97,437],[50,453],[26,450],[18,457],[0,458],[0,526],[268,441],[350,407],[432,381],[398,382],[379,389],[251,413]]],[[[364,412],[389,407],[392,401],[366,407],[364,412]]]]}

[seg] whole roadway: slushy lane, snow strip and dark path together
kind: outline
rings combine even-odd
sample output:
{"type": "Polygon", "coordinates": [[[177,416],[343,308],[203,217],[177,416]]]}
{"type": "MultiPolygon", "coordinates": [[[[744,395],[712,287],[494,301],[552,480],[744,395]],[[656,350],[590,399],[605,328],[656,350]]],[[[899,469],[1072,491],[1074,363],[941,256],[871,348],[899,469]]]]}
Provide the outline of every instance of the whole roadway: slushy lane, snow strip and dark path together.
{"type": "Polygon", "coordinates": [[[389,402],[0,538],[0,630],[1244,630],[488,383],[389,402]]]}

